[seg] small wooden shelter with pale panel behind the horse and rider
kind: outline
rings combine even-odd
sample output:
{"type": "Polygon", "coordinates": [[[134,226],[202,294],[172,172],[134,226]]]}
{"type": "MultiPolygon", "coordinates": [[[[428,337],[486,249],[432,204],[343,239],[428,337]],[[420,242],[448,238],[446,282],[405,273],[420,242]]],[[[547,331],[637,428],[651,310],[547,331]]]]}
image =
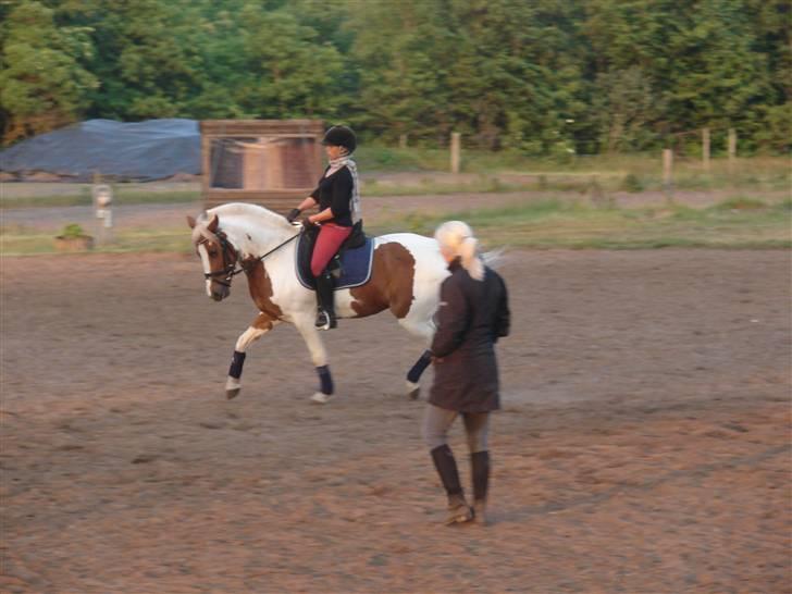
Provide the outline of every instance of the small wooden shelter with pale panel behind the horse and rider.
{"type": "Polygon", "coordinates": [[[286,213],[322,175],[319,120],[200,123],[203,206],[255,202],[286,213]]]}

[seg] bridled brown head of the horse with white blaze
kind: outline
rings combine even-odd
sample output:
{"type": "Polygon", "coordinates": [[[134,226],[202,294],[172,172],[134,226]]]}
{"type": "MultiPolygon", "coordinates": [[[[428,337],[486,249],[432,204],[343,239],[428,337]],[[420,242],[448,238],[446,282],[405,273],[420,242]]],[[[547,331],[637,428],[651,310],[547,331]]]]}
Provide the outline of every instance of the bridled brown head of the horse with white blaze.
{"type": "Polygon", "coordinates": [[[216,214],[211,218],[202,215],[197,221],[187,216],[187,224],[193,230],[193,245],[203,264],[207,295],[215,301],[222,301],[231,295],[231,280],[239,255],[225,233],[219,230],[220,219],[216,214]]]}

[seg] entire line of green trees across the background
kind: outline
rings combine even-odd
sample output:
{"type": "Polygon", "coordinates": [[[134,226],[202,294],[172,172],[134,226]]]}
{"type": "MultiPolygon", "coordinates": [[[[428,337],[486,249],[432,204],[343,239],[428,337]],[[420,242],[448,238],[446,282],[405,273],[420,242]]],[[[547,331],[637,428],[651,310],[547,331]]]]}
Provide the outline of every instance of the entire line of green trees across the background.
{"type": "Polygon", "coordinates": [[[789,0],[2,0],[4,144],[90,117],[311,117],[596,153],[788,151],[789,0]]]}

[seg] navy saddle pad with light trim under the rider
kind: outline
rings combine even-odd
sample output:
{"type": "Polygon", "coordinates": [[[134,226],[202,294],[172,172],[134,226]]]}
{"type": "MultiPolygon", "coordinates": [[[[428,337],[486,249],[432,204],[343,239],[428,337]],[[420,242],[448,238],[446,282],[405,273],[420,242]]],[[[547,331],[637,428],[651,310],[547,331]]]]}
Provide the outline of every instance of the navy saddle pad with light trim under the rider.
{"type": "MultiPolygon", "coordinates": [[[[311,275],[311,253],[313,251],[313,237],[300,235],[297,245],[297,279],[300,284],[310,289],[317,288],[317,282],[311,275]]],[[[371,265],[374,261],[374,240],[367,237],[362,246],[344,248],[335,256],[327,267],[333,275],[333,288],[352,288],[364,285],[371,279],[371,265]]]]}

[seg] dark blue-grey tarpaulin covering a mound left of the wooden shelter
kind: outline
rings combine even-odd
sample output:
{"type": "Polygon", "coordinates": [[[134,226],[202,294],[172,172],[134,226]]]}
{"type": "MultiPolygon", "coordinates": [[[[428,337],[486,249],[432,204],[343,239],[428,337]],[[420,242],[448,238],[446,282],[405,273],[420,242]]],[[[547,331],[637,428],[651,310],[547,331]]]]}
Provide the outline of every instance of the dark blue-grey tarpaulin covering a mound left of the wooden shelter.
{"type": "Polygon", "coordinates": [[[86,181],[95,173],[136,181],[197,175],[200,131],[195,120],[88,120],[3,150],[0,171],[39,171],[86,181]]]}

